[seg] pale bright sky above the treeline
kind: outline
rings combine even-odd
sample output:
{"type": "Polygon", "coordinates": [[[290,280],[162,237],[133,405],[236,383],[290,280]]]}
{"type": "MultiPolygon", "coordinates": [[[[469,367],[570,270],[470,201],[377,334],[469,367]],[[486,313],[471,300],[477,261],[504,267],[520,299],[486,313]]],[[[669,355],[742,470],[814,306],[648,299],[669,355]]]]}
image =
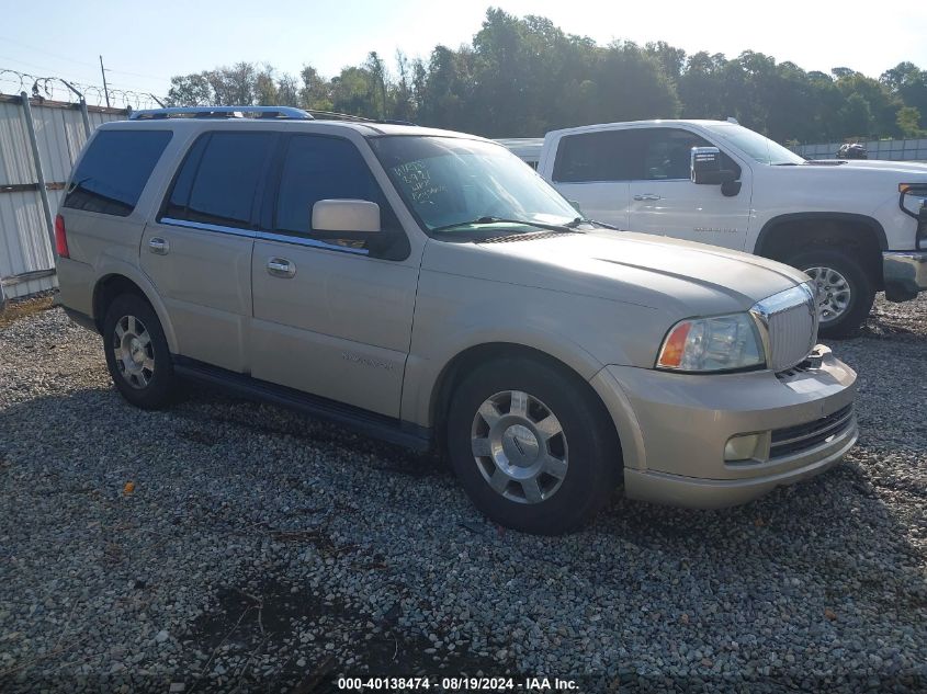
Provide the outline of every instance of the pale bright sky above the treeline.
{"type": "MultiPolygon", "coordinates": [[[[872,77],[903,60],[927,69],[927,3],[875,14],[871,0],[0,0],[0,70],[163,95],[170,77],[246,60],[331,77],[376,50],[428,58],[479,31],[489,5],[539,14],[599,44],[666,41],[687,53],[756,50],[805,70],[872,77]],[[5,7],[4,7],[5,5],[5,7]]],[[[888,5],[884,5],[888,8],[888,5]]],[[[0,91],[9,91],[0,76],[0,91]]]]}

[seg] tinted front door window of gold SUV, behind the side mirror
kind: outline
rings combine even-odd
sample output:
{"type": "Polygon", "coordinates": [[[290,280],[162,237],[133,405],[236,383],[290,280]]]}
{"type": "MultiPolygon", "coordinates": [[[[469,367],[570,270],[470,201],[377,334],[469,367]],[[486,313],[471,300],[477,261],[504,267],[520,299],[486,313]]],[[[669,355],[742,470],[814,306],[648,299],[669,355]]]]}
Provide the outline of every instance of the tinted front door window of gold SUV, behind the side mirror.
{"type": "Polygon", "coordinates": [[[353,144],[337,137],[294,136],[283,157],[274,230],[294,235],[310,232],[313,205],[320,200],[376,203],[383,230],[399,229],[393,208],[353,144]]]}

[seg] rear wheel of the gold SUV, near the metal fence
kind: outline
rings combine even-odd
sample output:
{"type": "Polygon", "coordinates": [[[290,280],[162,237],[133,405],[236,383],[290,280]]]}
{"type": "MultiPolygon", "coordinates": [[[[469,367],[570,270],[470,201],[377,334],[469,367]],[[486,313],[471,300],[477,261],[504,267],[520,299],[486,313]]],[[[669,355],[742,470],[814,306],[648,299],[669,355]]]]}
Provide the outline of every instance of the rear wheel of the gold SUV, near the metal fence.
{"type": "Polygon", "coordinates": [[[103,319],[103,350],[113,385],[146,410],[168,405],[176,376],[170,350],[154,309],[140,296],[123,294],[103,319]]]}

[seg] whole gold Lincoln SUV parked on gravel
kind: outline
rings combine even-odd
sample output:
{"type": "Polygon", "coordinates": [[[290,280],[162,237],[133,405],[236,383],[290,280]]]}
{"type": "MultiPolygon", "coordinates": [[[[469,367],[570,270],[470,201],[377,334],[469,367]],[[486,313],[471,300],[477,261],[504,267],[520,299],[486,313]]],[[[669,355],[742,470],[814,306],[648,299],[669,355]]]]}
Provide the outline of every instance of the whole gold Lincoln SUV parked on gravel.
{"type": "Polygon", "coordinates": [[[193,378],[440,446],[510,527],[569,531],[619,487],[745,502],[857,439],[806,275],[607,228],[478,137],[138,112],[88,143],[56,232],[133,405],[193,378]]]}

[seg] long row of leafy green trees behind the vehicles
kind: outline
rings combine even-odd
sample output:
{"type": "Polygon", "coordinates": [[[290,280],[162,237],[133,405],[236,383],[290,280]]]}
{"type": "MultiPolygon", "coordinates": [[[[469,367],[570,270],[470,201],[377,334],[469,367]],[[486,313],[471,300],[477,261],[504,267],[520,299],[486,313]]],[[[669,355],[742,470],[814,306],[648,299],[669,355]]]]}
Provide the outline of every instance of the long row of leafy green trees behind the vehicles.
{"type": "Polygon", "coordinates": [[[848,67],[805,72],[746,50],[690,56],[666,42],[599,46],[542,16],[489,9],[468,44],[436,46],[427,59],[377,53],[324,77],[272,66],[176,76],[171,105],[293,104],[414,121],[490,137],[610,121],[736,116],[779,141],[915,136],[927,117],[927,70],[900,62],[880,79],[848,67]]]}

